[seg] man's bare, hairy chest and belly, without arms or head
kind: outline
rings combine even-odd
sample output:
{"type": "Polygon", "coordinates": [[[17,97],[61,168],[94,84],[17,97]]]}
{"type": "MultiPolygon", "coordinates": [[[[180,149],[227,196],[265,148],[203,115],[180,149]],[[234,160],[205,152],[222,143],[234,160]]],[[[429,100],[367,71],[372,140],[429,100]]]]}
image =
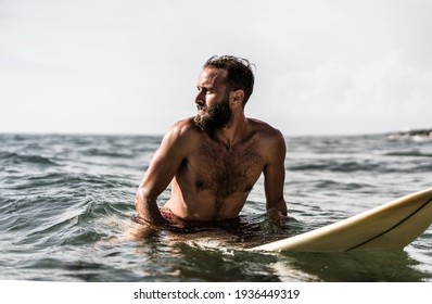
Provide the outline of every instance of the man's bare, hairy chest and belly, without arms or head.
{"type": "Polygon", "coordinates": [[[266,165],[263,125],[251,125],[244,140],[231,149],[201,130],[189,134],[191,147],[173,179],[165,207],[187,220],[236,217],[266,165]]]}

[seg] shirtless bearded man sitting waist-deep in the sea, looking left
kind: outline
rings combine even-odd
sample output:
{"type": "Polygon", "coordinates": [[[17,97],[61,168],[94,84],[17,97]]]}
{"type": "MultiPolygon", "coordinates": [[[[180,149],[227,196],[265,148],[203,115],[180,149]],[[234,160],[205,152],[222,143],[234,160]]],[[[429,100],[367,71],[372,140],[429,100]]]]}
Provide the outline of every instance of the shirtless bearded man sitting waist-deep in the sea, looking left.
{"type": "Polygon", "coordinates": [[[198,114],[164,136],[136,195],[137,223],[169,228],[180,221],[236,218],[264,173],[266,208],[284,218],[285,142],[266,123],[247,118],[254,74],[249,61],[213,56],[198,80],[198,114]],[[170,199],[156,199],[171,185],[170,199]]]}

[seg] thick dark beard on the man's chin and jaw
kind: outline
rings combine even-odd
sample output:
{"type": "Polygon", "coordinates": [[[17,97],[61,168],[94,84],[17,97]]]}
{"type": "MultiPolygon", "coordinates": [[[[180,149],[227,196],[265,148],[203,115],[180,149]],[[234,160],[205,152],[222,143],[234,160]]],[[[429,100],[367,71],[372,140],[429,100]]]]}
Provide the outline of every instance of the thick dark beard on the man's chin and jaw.
{"type": "Polygon", "coordinates": [[[231,121],[232,112],[228,99],[205,109],[203,114],[198,113],[193,122],[203,131],[214,132],[225,127],[231,121]]]}

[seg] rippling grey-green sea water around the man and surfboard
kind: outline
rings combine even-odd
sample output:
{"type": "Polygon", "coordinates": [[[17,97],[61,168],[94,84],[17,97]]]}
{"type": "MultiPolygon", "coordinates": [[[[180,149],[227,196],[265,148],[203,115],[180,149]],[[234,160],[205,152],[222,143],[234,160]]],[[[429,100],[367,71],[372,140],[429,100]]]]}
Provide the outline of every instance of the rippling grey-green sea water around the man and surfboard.
{"type": "Polygon", "coordinates": [[[430,138],[287,137],[284,226],[267,220],[259,179],[233,227],[136,241],[135,192],[161,139],[0,135],[0,280],[432,281],[431,228],[403,251],[243,250],[432,187],[430,138]]]}

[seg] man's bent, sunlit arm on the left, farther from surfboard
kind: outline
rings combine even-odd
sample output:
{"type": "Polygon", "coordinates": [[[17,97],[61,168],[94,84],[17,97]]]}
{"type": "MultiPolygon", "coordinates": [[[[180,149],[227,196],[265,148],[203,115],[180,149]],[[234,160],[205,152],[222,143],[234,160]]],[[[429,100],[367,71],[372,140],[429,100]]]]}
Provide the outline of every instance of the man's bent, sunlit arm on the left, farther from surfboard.
{"type": "Polygon", "coordinates": [[[188,143],[183,135],[182,122],[168,130],[137,190],[135,206],[138,216],[156,226],[167,224],[158,210],[156,200],[168,187],[187,155],[188,143]]]}

